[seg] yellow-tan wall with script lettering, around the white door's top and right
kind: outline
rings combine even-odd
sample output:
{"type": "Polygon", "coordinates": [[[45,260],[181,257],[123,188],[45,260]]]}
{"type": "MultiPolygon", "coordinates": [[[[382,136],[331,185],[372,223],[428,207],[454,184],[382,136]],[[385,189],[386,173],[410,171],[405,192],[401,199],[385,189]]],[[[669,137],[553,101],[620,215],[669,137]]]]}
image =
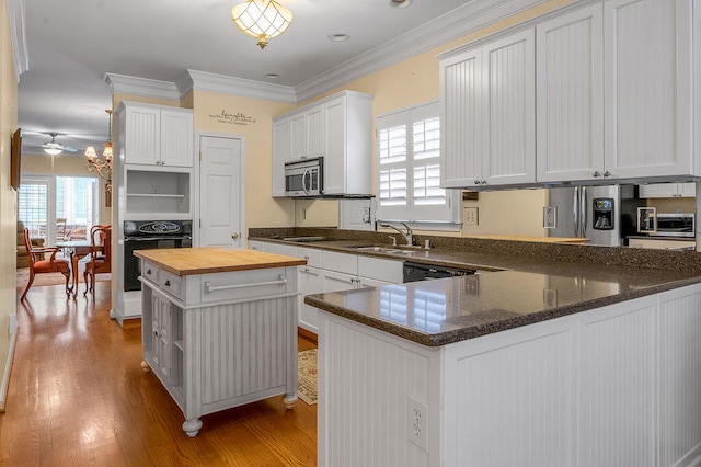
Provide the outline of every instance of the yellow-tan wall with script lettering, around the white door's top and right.
{"type": "MultiPolygon", "coordinates": [[[[295,202],[273,198],[273,117],[292,109],[291,104],[260,99],[195,91],[195,132],[242,135],[245,148],[246,227],[290,227],[295,224],[295,202]],[[243,114],[250,122],[232,123],[221,113],[243,114]]],[[[195,143],[198,144],[198,143],[195,143]]]]}

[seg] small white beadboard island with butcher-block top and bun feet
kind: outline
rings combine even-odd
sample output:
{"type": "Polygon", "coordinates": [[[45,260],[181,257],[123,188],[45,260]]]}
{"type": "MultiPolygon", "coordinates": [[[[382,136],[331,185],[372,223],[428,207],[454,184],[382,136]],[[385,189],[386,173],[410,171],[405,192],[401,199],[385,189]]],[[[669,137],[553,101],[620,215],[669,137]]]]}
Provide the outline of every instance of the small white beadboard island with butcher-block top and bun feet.
{"type": "Polygon", "coordinates": [[[138,250],[142,367],[197,435],[202,415],[276,395],[297,400],[297,266],[251,250],[138,250]]]}

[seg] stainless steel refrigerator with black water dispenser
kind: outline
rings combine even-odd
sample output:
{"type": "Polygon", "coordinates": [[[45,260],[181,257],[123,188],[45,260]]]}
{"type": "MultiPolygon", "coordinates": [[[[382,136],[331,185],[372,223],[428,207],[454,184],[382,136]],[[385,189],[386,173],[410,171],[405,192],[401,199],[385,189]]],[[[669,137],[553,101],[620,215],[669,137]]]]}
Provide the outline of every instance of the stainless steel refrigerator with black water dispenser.
{"type": "Polygon", "coordinates": [[[625,246],[635,235],[635,185],[575,186],[550,190],[543,227],[550,237],[587,238],[590,244],[625,246]]]}

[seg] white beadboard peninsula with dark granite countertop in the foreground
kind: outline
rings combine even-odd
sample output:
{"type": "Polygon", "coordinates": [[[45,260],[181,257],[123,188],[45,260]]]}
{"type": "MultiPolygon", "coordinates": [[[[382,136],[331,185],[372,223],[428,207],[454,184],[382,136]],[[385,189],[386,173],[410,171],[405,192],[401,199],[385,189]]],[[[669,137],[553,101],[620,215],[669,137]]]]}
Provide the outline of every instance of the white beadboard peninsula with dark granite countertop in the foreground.
{"type": "Polygon", "coordinates": [[[308,296],[319,466],[701,465],[699,282],[573,263],[308,296]]]}

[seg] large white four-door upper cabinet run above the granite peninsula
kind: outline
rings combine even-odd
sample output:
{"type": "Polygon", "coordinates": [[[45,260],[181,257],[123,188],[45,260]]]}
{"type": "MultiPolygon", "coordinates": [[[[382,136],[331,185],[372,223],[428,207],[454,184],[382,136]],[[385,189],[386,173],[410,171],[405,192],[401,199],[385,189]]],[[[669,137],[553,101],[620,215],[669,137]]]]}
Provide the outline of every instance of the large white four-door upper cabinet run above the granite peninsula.
{"type": "Polygon", "coordinates": [[[692,92],[694,48],[701,54],[692,25],[701,24],[701,11],[692,4],[573,4],[532,20],[535,39],[526,29],[441,54],[441,185],[701,175],[701,151],[693,149],[701,106],[692,92]]]}

